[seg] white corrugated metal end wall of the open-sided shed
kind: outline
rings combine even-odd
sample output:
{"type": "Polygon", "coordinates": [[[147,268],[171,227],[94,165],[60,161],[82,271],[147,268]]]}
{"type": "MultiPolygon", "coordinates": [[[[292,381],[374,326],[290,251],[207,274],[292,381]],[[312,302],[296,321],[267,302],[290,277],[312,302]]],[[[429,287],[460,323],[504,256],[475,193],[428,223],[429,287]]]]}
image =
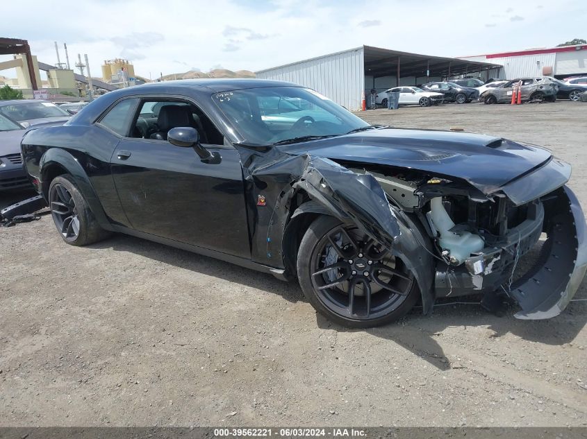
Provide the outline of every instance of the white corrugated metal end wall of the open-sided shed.
{"type": "Polygon", "coordinates": [[[365,89],[363,48],[352,49],[313,60],[258,71],[257,78],[286,80],[315,89],[334,102],[358,110],[365,89]]]}

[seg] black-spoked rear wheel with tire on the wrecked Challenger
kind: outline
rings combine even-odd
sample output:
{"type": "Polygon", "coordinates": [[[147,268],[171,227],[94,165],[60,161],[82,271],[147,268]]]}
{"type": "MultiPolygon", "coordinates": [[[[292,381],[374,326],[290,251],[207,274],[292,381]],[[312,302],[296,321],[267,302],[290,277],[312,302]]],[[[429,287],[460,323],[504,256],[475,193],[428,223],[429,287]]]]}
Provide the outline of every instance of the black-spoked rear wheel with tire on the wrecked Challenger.
{"type": "Polygon", "coordinates": [[[110,235],[100,227],[70,175],[51,181],[49,207],[61,238],[72,246],[87,246],[110,235]]]}

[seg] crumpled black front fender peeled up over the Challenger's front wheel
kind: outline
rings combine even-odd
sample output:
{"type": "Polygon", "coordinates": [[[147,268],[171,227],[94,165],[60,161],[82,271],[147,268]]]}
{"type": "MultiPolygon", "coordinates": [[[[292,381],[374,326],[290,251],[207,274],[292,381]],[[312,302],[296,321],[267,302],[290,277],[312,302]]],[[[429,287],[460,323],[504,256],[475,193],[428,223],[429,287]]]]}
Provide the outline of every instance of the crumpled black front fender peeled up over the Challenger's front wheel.
{"type": "MultiPolygon", "coordinates": [[[[267,227],[267,243],[272,242],[272,236],[283,234],[285,224],[281,218],[293,218],[310,210],[354,224],[404,261],[422,293],[424,313],[429,313],[433,305],[433,261],[427,251],[427,240],[415,223],[399,218],[379,182],[372,175],[354,173],[322,157],[306,154],[289,157],[286,162],[292,180],[277,197],[267,227]],[[291,200],[299,191],[307,193],[312,206],[308,210],[302,205],[295,212],[289,212],[291,200]]],[[[279,174],[284,162],[274,164],[251,170],[251,178],[263,180],[267,175],[279,174]]],[[[399,214],[405,216],[403,212],[399,214]]]]}

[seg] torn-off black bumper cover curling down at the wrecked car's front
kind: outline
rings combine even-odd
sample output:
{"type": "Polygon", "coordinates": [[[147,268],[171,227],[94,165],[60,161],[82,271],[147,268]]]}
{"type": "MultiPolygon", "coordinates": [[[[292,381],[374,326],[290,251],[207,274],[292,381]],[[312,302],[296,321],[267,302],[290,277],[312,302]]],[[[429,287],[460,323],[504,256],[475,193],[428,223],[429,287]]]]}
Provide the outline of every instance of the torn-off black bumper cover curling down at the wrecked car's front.
{"type": "Polygon", "coordinates": [[[558,316],[577,293],[587,270],[587,225],[579,200],[566,186],[552,195],[556,198],[546,203],[547,240],[540,257],[509,291],[522,307],[515,318],[558,316]]]}

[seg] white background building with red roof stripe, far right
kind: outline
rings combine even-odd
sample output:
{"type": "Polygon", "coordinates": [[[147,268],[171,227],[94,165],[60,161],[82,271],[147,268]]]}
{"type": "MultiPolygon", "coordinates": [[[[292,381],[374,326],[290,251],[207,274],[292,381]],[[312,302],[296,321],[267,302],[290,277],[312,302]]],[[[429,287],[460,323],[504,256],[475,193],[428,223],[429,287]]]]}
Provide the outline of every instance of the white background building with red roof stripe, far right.
{"type": "Polygon", "coordinates": [[[528,49],[518,52],[465,56],[461,60],[491,62],[503,66],[493,78],[515,79],[522,76],[587,76],[587,45],[528,49]]]}

